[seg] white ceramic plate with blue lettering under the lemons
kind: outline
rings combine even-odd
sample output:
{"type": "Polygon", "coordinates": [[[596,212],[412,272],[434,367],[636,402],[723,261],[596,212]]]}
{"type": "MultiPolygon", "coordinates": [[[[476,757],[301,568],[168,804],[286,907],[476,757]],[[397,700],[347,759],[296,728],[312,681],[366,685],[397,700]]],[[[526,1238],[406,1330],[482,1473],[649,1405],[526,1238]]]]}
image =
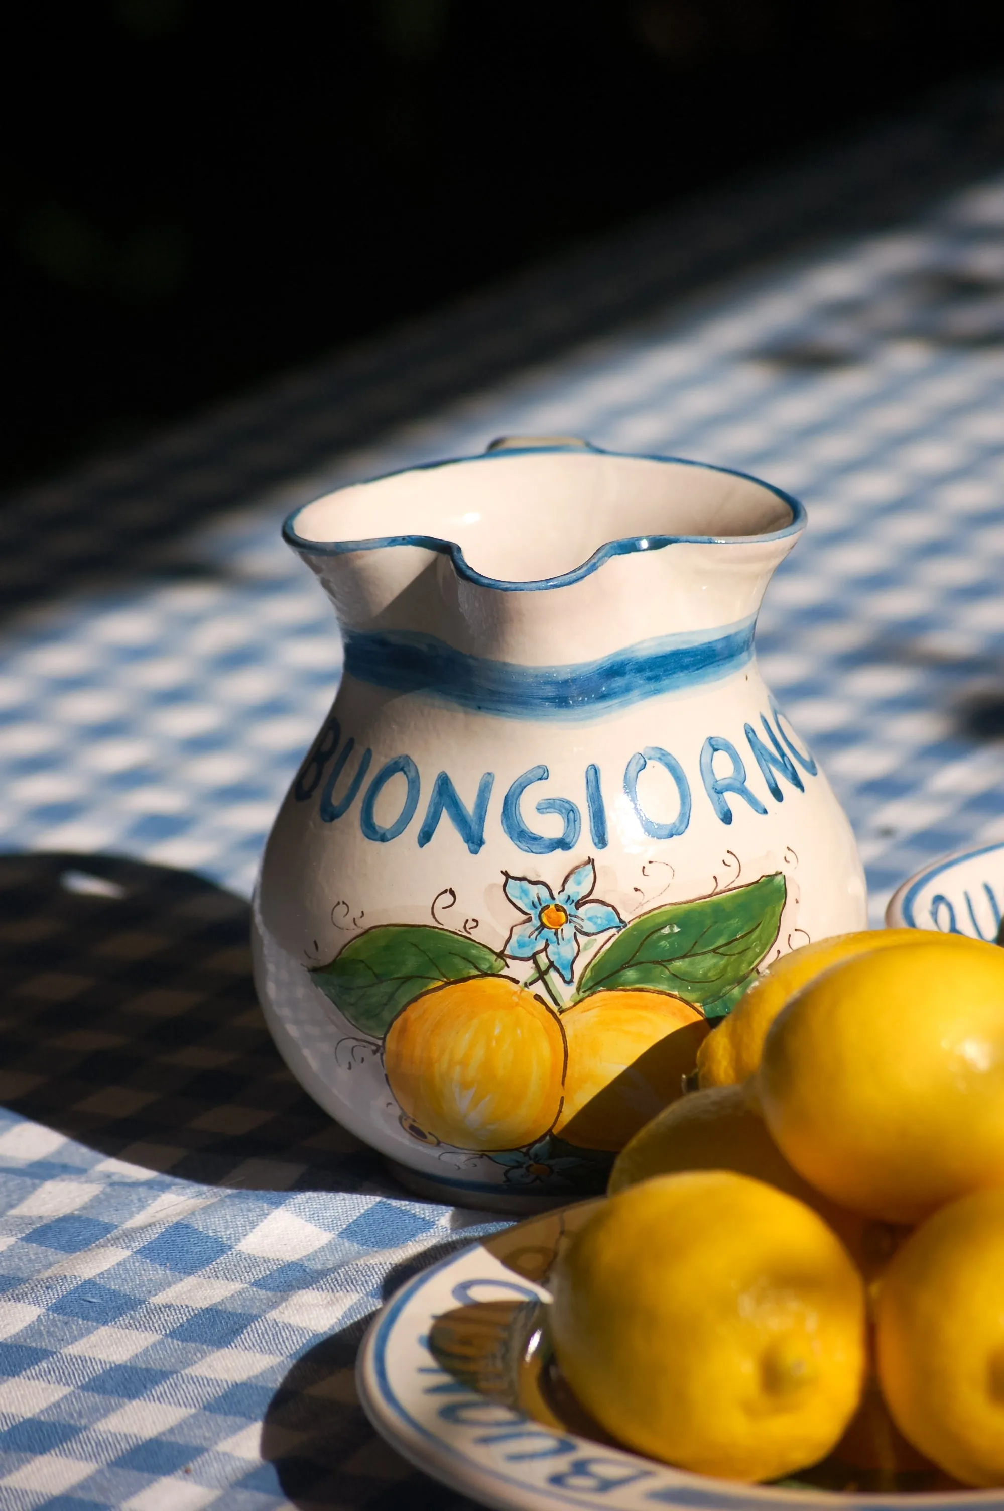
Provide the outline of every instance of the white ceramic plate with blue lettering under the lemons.
{"type": "Polygon", "coordinates": [[[423,1271],[376,1316],[359,1355],[359,1396],[376,1429],[420,1469],[504,1511],[832,1511],[847,1499],[833,1493],[841,1490],[861,1491],[853,1503],[870,1511],[916,1506],[916,1491],[932,1511],[1004,1511],[1002,1491],[939,1491],[938,1473],[922,1467],[898,1475],[895,1493],[876,1493],[876,1472],[836,1455],[811,1481],[737,1485],[619,1448],[562,1384],[540,1327],[554,1257],[595,1207],[562,1207],[467,1248],[423,1271]]]}

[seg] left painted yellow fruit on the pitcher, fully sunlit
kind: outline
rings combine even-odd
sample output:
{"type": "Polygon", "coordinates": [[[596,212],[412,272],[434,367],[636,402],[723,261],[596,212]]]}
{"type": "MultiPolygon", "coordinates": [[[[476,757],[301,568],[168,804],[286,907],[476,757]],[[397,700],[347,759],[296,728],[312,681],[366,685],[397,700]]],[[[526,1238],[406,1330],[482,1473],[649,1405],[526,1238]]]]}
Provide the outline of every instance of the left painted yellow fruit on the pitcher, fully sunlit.
{"type": "Polygon", "coordinates": [[[557,1014],[504,976],[454,981],[415,997],[383,1041],[400,1108],[457,1148],[519,1148],[562,1106],[565,1034],[557,1014]]]}

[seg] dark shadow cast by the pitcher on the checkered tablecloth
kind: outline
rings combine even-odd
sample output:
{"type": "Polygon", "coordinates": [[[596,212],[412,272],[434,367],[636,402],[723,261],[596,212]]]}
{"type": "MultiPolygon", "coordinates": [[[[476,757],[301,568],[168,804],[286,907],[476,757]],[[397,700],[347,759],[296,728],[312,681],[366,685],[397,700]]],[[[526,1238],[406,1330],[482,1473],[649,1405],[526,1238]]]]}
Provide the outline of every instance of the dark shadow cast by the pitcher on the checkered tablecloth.
{"type": "Polygon", "coordinates": [[[396,1194],[279,1058],[243,899],[110,855],[2,855],[0,916],[14,1112],[202,1185],[396,1194]]]}

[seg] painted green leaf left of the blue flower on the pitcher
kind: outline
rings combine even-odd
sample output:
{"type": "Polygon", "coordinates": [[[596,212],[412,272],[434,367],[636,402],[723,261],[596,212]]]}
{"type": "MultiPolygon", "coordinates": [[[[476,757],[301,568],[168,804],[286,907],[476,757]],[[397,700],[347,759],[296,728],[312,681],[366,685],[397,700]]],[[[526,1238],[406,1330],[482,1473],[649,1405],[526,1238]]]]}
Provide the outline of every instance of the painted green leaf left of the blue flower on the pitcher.
{"type": "Polygon", "coordinates": [[[409,1002],[447,981],[497,976],[506,961],[486,944],[427,923],[385,923],[358,934],[311,976],[362,1034],[383,1038],[409,1002]]]}

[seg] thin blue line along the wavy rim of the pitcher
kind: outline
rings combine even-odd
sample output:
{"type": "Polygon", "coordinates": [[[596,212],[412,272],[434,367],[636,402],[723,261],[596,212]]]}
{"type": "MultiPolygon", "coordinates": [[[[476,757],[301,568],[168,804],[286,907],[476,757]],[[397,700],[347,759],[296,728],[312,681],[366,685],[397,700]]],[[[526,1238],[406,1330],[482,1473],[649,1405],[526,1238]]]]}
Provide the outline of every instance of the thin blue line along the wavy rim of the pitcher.
{"type": "MultiPolygon", "coordinates": [[[[300,552],[303,556],[346,556],[349,552],[383,550],[388,545],[418,545],[423,550],[438,552],[442,556],[448,556],[457,577],[464,577],[467,582],[473,582],[479,588],[495,588],[500,592],[544,592],[548,588],[568,588],[575,582],[581,582],[584,577],[592,576],[598,567],[602,567],[605,561],[610,561],[611,556],[631,556],[636,552],[661,552],[666,545],[762,544],[765,541],[782,541],[787,536],[799,535],[805,529],[805,508],[799,503],[799,500],[793,499],[791,494],[785,493],[782,488],[775,488],[773,484],[764,482],[762,477],[753,477],[752,473],[738,471],[735,467],[714,467],[711,462],[696,462],[687,456],[651,456],[636,452],[607,452],[599,446],[513,446],[498,452],[479,452],[474,456],[454,456],[445,461],[420,462],[417,467],[399,467],[396,471],[382,473],[379,477],[370,477],[365,484],[362,484],[362,487],[368,488],[373,484],[385,482],[388,477],[400,477],[403,473],[409,471],[432,471],[438,467],[459,467],[464,462],[474,461],[503,462],[509,456],[544,456],[554,452],[565,452],[568,455],[578,456],[590,453],[595,456],[627,456],[631,461],[666,462],[678,467],[701,467],[704,471],[722,473],[728,477],[741,477],[743,482],[752,482],[758,488],[765,488],[767,493],[771,493],[776,499],[781,499],[781,502],[791,509],[791,523],[785,524],[782,530],[770,530],[767,535],[625,536],[624,539],[607,541],[605,545],[599,545],[589,561],[583,562],[581,567],[574,567],[572,571],[560,573],[556,577],[537,577],[533,582],[513,582],[506,577],[486,577],[485,573],[477,571],[467,562],[464,552],[456,541],[444,541],[438,535],[383,535],[374,539],[362,541],[308,541],[302,535],[296,533],[296,520],[305,509],[311,508],[311,503],[317,502],[316,499],[313,499],[311,503],[305,503],[297,509],[293,509],[282,526],[282,539],[287,545],[291,545],[294,552],[300,552]]],[[[326,497],[326,494],[322,494],[322,497],[326,497]]]]}

